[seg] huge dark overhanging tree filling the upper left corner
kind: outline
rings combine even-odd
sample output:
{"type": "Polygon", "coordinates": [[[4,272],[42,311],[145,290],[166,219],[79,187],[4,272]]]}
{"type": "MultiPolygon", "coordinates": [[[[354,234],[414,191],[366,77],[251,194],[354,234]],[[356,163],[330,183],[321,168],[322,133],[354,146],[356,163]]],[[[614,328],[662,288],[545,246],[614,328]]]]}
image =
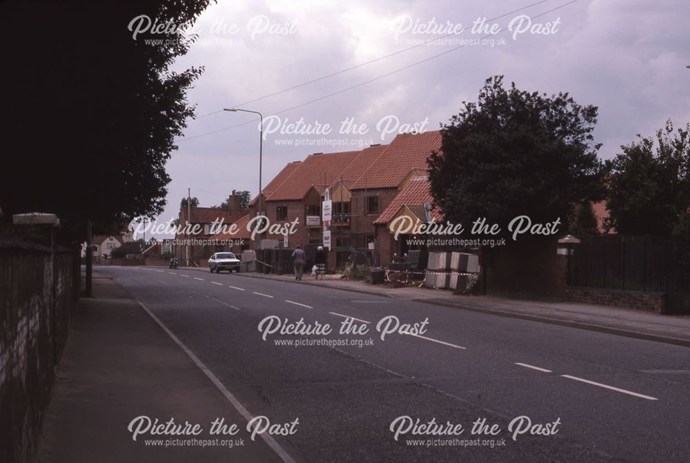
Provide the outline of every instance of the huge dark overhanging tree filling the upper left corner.
{"type": "Polygon", "coordinates": [[[165,170],[193,106],[201,68],[170,69],[192,39],[130,21],[190,25],[208,0],[7,1],[3,43],[0,208],[56,213],[62,235],[108,233],[165,206],[165,170]],[[157,39],[158,43],[146,43],[157,39]]]}

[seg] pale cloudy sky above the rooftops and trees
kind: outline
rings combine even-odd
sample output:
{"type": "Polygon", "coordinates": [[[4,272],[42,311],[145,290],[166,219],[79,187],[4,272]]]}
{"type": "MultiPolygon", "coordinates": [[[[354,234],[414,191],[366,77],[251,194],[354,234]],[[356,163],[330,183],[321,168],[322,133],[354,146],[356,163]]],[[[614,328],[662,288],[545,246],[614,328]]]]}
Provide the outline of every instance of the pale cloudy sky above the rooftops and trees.
{"type": "Polygon", "coordinates": [[[689,2],[575,0],[564,6],[567,1],[219,0],[201,16],[197,42],[176,64],[205,72],[188,93],[198,117],[168,163],[168,208],[159,219],[177,216],[187,188],[201,206],[219,204],[233,188],[255,195],[254,117],[219,112],[240,104],[264,117],[278,113],[266,120],[272,132],[264,141],[264,185],[287,162],[313,152],[388,143],[393,132],[415,125],[436,130],[497,74],[524,90],[567,91],[580,104],[598,106],[595,137],[603,158],[669,117],[677,125],[690,121],[689,2]],[[483,26],[475,23],[480,18],[483,26]],[[512,24],[512,30],[482,41],[493,24],[512,24]],[[439,40],[411,48],[432,39],[439,40]],[[293,86],[299,88],[282,92],[293,86]],[[318,133],[280,133],[300,119],[318,133]],[[368,130],[343,134],[346,120],[368,130]],[[326,135],[324,124],[331,127],[326,135]]]}

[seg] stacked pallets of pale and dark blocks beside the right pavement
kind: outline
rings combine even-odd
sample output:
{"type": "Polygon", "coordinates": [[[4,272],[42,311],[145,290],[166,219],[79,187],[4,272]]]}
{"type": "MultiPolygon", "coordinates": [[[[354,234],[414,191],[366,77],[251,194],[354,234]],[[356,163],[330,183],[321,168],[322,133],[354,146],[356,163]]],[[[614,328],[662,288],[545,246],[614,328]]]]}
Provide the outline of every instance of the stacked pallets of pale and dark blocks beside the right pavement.
{"type": "Polygon", "coordinates": [[[455,251],[429,253],[424,286],[469,290],[479,277],[479,256],[455,251]]]}

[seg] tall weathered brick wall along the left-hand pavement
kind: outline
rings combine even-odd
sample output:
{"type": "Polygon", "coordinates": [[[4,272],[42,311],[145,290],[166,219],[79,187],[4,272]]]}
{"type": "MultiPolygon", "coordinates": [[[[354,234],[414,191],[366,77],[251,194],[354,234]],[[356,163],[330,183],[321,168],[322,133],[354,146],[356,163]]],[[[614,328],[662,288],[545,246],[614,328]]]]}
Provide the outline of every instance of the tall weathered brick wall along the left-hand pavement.
{"type": "Polygon", "coordinates": [[[32,460],[79,297],[79,253],[0,242],[0,462],[32,460]]]}

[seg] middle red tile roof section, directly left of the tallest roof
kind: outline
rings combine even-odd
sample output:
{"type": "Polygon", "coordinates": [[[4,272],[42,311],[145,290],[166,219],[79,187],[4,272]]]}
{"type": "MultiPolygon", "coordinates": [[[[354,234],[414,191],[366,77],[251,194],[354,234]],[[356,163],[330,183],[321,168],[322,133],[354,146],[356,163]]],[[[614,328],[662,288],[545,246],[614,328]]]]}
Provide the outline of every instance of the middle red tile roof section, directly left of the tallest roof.
{"type": "Polygon", "coordinates": [[[332,185],[359,153],[345,151],[307,156],[266,200],[302,199],[312,186],[332,185]]]}

